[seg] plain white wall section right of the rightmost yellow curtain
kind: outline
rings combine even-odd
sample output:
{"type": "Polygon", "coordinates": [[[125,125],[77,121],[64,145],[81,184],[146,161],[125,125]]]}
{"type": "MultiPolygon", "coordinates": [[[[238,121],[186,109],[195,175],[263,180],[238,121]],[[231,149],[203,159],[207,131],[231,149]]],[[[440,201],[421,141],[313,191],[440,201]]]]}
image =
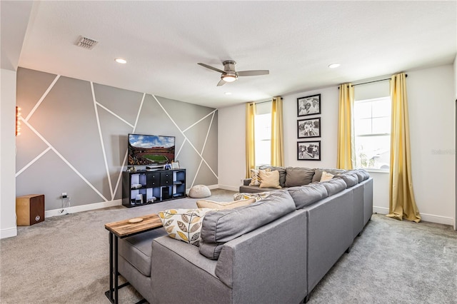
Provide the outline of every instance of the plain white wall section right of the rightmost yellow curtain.
{"type": "Polygon", "coordinates": [[[414,195],[424,221],[453,225],[456,172],[453,66],[408,72],[414,195]]]}

